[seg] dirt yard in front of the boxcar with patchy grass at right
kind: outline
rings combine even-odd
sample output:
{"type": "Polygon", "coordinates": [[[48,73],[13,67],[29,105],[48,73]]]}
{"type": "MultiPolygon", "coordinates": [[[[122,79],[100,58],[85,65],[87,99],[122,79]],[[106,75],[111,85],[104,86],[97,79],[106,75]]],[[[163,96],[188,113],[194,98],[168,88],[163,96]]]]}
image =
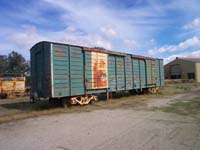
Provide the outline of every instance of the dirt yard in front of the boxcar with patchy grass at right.
{"type": "Polygon", "coordinates": [[[0,150],[200,150],[199,108],[198,87],[75,106],[0,124],[0,150]]]}

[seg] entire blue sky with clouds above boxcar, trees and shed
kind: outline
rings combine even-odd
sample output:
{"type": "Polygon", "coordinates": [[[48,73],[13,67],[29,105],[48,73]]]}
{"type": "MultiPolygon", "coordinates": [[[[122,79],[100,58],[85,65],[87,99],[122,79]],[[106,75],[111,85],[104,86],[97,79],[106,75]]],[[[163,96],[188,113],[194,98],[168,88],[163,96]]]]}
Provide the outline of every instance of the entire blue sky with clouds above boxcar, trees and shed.
{"type": "Polygon", "coordinates": [[[48,40],[163,58],[200,57],[199,0],[0,0],[0,55],[48,40]]]}

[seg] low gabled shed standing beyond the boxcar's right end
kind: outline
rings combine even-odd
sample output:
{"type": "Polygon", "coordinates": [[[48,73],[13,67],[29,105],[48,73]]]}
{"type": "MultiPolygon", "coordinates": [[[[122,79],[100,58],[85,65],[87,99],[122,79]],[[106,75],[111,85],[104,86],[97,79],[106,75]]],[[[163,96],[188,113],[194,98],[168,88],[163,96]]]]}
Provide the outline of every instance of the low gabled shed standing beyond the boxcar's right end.
{"type": "Polygon", "coordinates": [[[165,79],[194,79],[200,82],[200,58],[179,58],[166,64],[165,79]]]}

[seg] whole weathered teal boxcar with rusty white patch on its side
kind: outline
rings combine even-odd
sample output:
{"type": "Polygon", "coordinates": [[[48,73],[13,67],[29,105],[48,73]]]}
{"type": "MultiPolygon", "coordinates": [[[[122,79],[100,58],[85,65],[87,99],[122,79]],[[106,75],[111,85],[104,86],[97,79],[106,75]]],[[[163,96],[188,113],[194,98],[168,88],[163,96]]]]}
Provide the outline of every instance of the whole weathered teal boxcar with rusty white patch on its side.
{"type": "Polygon", "coordinates": [[[33,99],[83,105],[98,93],[155,92],[164,85],[162,59],[46,41],[30,51],[33,99]]]}

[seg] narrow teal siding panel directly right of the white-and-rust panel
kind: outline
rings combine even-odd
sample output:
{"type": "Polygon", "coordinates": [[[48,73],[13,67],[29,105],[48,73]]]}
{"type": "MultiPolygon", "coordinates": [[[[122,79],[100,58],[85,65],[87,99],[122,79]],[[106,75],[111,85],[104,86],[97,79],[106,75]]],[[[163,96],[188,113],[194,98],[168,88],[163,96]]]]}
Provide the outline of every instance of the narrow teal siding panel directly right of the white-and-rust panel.
{"type": "Polygon", "coordinates": [[[110,91],[116,91],[116,60],[115,56],[109,55],[108,57],[108,78],[110,91]]]}

